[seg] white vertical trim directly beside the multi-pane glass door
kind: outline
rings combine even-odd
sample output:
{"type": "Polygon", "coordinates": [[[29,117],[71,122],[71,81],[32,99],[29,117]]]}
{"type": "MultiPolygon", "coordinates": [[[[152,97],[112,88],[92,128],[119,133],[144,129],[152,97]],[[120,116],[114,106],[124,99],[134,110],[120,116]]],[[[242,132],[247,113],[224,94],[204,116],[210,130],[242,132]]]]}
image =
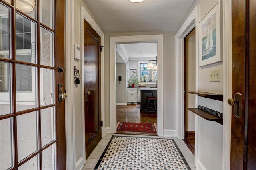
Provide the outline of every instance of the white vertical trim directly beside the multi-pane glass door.
{"type": "Polygon", "coordinates": [[[66,106],[66,166],[67,169],[75,169],[75,109],[74,109],[74,33],[73,13],[74,1],[65,3],[65,85],[68,97],[66,106]]]}

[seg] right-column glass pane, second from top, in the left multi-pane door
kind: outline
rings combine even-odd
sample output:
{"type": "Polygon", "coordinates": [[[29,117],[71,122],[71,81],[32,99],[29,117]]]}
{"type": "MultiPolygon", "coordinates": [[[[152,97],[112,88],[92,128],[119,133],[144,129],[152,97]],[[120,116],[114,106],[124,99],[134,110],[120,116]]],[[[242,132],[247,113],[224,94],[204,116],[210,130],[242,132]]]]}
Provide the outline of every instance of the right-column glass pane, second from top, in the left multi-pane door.
{"type": "Polygon", "coordinates": [[[41,65],[54,66],[54,34],[40,27],[41,65]]]}

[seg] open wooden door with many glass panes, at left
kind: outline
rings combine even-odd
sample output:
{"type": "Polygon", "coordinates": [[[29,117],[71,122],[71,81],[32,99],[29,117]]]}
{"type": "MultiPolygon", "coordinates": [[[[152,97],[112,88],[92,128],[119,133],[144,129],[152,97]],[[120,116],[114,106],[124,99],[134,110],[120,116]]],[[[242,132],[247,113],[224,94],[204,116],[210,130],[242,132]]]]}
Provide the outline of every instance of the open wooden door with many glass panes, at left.
{"type": "Polygon", "coordinates": [[[0,1],[0,169],[66,169],[64,0],[0,1]]]}

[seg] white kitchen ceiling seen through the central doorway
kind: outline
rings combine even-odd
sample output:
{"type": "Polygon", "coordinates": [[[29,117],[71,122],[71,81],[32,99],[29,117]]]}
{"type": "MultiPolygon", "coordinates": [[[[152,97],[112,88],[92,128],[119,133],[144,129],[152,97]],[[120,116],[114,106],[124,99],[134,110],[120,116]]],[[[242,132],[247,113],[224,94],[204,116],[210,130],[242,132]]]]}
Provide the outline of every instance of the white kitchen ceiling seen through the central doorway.
{"type": "Polygon", "coordinates": [[[132,58],[152,58],[157,56],[157,43],[122,44],[127,56],[132,58]]]}

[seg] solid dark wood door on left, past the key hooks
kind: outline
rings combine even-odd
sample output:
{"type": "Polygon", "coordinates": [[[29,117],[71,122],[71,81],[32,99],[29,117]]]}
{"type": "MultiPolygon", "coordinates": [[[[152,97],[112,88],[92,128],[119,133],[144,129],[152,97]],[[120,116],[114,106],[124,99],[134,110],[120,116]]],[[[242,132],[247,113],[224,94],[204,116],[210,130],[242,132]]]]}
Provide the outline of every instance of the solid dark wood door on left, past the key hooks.
{"type": "Polygon", "coordinates": [[[100,36],[84,20],[84,114],[86,159],[101,139],[100,36]]]}

